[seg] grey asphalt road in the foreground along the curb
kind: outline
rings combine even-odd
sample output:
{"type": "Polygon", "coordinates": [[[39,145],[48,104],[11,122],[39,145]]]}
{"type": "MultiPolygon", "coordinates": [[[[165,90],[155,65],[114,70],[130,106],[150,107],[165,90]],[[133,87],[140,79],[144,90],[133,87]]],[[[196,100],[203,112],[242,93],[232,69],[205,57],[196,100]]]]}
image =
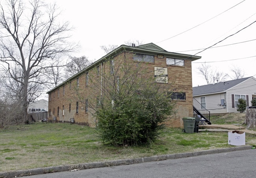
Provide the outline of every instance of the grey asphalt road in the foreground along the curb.
{"type": "Polygon", "coordinates": [[[250,178],[256,176],[256,149],[29,176],[29,178],[250,178]]]}

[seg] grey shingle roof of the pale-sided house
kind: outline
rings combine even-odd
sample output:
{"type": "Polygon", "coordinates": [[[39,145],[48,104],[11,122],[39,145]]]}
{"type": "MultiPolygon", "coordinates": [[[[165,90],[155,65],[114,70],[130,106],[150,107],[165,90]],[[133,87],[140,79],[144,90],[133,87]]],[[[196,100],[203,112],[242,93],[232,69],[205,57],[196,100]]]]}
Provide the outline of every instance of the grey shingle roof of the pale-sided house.
{"type": "Polygon", "coordinates": [[[226,92],[226,90],[238,85],[239,83],[244,82],[245,80],[248,80],[249,78],[253,77],[240,78],[237,80],[230,80],[226,82],[219,82],[209,85],[193,87],[193,96],[226,92]]]}

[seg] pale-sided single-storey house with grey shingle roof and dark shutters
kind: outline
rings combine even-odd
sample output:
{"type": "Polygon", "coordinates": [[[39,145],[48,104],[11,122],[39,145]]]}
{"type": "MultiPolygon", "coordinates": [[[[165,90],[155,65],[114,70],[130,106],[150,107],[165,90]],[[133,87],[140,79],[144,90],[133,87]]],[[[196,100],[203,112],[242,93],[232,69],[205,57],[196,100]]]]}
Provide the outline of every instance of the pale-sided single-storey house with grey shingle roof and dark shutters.
{"type": "Polygon", "coordinates": [[[237,113],[239,98],[246,100],[247,108],[256,98],[256,79],[247,77],[193,87],[193,97],[200,102],[202,109],[206,108],[211,114],[237,113]]]}

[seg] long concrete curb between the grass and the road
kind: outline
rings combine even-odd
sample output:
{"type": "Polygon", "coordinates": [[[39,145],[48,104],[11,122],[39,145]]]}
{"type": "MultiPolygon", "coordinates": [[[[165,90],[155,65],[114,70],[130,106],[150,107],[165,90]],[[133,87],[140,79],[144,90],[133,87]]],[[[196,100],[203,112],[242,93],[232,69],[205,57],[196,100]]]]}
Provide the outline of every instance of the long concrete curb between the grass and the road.
{"type": "Polygon", "coordinates": [[[0,173],[0,178],[32,176],[32,175],[37,175],[37,174],[47,174],[47,173],[53,173],[53,172],[71,171],[71,170],[75,170],[75,169],[82,170],[82,169],[91,169],[91,168],[97,168],[97,167],[129,165],[129,164],[145,163],[145,162],[151,162],[151,161],[161,161],[161,160],[166,160],[166,159],[179,159],[179,158],[187,158],[187,157],[192,157],[192,156],[200,156],[200,155],[223,153],[223,152],[232,152],[232,151],[239,151],[239,150],[249,150],[249,149],[252,149],[251,145],[236,146],[236,147],[232,147],[232,148],[221,148],[221,149],[216,149],[216,150],[204,150],[204,151],[198,151],[198,152],[167,154],[167,155],[151,156],[151,157],[136,158],[136,159],[123,159],[123,160],[117,160],[117,161],[82,163],[82,164],[77,164],[77,165],[66,165],[66,166],[28,169],[28,170],[24,170],[24,171],[2,172],[2,173],[0,173]]]}

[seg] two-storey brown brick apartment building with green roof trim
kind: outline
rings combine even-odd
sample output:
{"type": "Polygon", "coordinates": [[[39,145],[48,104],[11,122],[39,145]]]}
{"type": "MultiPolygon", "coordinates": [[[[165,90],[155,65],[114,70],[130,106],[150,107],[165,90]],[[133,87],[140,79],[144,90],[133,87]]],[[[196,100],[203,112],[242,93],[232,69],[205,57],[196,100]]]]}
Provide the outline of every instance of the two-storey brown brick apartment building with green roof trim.
{"type": "Polygon", "coordinates": [[[121,70],[117,69],[120,64],[127,63],[136,67],[139,63],[148,71],[144,77],[154,77],[156,82],[167,85],[169,91],[174,93],[172,96],[176,100],[177,113],[166,124],[170,127],[182,127],[182,117],[193,117],[191,61],[200,58],[168,52],[153,43],[121,45],[47,92],[48,120],[71,122],[74,119],[77,124],[94,127],[96,121],[92,108],[104,95],[102,86],[108,82],[103,80],[104,76],[117,71],[122,75],[121,70]]]}

